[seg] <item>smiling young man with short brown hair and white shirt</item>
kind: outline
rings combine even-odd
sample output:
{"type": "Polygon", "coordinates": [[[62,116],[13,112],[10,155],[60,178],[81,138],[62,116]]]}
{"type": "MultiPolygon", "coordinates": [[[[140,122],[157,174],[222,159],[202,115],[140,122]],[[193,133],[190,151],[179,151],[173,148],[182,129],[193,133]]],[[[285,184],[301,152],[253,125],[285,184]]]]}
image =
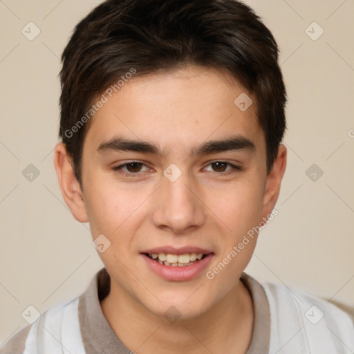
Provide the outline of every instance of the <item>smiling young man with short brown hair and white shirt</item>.
{"type": "Polygon", "coordinates": [[[233,0],[111,0],[63,53],[55,169],[104,263],[1,353],[353,353],[339,308],[245,274],[277,210],[278,48],[233,0]]]}

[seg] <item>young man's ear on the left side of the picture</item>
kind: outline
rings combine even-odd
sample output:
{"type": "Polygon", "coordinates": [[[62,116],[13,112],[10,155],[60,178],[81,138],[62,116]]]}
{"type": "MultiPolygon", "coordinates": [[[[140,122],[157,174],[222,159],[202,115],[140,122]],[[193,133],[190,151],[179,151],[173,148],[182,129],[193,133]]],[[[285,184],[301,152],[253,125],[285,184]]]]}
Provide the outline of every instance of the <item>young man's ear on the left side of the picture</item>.
{"type": "Polygon", "coordinates": [[[88,218],[82,190],[75,176],[71,157],[62,142],[55,147],[54,166],[66,205],[77,221],[86,223],[88,218]]]}

